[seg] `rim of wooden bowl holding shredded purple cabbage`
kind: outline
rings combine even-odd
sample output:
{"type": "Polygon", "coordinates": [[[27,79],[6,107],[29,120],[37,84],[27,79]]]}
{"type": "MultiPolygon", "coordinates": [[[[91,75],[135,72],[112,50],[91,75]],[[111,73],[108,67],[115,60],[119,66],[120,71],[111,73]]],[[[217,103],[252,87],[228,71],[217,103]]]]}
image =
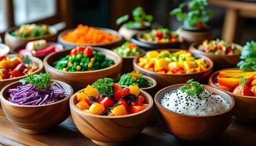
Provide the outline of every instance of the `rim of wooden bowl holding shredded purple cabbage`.
{"type": "MultiPolygon", "coordinates": [[[[62,81],[60,81],[60,80],[52,79],[52,81],[55,81],[55,82],[57,82],[57,83],[60,83],[61,85],[68,86],[68,88],[70,89],[70,92],[69,92],[68,96],[66,96],[66,97],[65,97],[64,99],[62,99],[62,100],[59,100],[59,101],[57,101],[57,102],[48,103],[48,104],[46,104],[46,105],[18,105],[18,104],[9,102],[9,101],[6,100],[6,99],[4,98],[4,96],[3,96],[3,93],[4,93],[5,89],[8,89],[10,86],[15,85],[15,84],[21,85],[20,81],[16,81],[16,82],[10,83],[9,85],[7,85],[7,86],[5,86],[4,88],[1,89],[1,91],[0,91],[0,100],[1,100],[1,102],[5,102],[5,103],[8,104],[8,105],[18,106],[18,107],[24,107],[24,108],[37,108],[37,107],[51,106],[51,105],[55,105],[55,104],[62,103],[62,102],[65,101],[65,100],[69,100],[70,97],[73,95],[73,92],[74,92],[73,88],[72,88],[68,83],[62,82],[62,81]]],[[[60,85],[60,86],[61,86],[61,85],[60,85]]]]}

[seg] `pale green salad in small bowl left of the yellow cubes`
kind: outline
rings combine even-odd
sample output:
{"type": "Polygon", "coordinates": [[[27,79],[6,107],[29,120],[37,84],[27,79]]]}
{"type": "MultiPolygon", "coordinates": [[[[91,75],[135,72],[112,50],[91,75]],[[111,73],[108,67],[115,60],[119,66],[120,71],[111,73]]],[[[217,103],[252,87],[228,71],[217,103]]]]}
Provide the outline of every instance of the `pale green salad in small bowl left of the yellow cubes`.
{"type": "Polygon", "coordinates": [[[123,57],[141,54],[141,48],[137,44],[130,43],[129,41],[126,41],[121,46],[116,47],[113,51],[123,57]]]}

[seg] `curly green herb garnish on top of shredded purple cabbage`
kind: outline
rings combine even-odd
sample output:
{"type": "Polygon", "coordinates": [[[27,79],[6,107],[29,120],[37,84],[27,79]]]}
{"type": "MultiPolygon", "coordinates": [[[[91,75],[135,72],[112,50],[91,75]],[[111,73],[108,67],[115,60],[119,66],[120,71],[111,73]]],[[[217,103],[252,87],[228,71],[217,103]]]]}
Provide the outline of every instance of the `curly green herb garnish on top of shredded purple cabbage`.
{"type": "Polygon", "coordinates": [[[48,72],[40,74],[29,74],[26,78],[21,79],[20,82],[23,85],[28,82],[32,85],[35,85],[39,89],[47,89],[51,83],[51,75],[48,72]]]}

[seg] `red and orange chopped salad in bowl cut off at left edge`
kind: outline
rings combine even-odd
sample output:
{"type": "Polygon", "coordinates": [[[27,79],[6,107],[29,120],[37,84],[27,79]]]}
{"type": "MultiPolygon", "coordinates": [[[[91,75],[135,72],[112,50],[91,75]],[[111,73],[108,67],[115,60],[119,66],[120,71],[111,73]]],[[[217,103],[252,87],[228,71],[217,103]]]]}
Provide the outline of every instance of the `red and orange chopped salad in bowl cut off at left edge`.
{"type": "Polygon", "coordinates": [[[0,57],[0,80],[31,74],[38,69],[38,65],[27,55],[0,57]]]}

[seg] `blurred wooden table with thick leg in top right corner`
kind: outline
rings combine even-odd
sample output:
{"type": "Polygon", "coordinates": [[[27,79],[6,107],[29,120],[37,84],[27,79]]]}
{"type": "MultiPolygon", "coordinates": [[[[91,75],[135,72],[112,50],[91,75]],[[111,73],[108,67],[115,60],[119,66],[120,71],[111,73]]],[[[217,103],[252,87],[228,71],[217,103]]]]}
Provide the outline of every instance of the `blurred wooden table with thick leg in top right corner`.
{"type": "Polygon", "coordinates": [[[239,44],[243,30],[242,18],[256,18],[256,2],[233,0],[208,0],[208,2],[210,5],[226,9],[221,39],[239,44]]]}

